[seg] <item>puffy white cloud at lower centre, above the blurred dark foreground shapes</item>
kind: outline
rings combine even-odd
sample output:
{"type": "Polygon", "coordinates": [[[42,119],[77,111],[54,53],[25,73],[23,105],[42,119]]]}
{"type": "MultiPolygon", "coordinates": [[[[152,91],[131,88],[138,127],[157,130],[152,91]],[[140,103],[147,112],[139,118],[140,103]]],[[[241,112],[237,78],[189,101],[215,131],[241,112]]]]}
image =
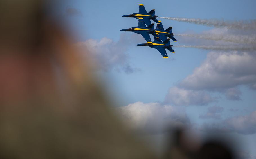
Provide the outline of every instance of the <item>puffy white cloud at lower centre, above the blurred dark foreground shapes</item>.
{"type": "Polygon", "coordinates": [[[160,103],[136,102],[118,108],[123,121],[134,131],[157,133],[190,122],[184,109],[160,103]]]}

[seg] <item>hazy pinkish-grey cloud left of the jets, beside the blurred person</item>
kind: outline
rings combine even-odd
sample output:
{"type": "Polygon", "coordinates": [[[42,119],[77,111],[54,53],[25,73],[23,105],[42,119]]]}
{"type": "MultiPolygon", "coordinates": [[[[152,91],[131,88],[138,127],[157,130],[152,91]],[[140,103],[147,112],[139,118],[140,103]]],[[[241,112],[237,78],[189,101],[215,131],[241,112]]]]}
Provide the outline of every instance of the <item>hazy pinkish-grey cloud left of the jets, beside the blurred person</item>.
{"type": "Polygon", "coordinates": [[[129,57],[126,54],[130,46],[131,36],[125,37],[121,34],[119,41],[114,42],[109,38],[102,38],[100,40],[89,39],[83,42],[76,43],[82,53],[89,52],[90,55],[84,55],[85,58],[90,57],[91,64],[97,69],[103,71],[124,71],[125,73],[133,73],[140,71],[138,68],[133,68],[129,64],[129,57]],[[84,51],[86,50],[86,52],[84,51]]]}

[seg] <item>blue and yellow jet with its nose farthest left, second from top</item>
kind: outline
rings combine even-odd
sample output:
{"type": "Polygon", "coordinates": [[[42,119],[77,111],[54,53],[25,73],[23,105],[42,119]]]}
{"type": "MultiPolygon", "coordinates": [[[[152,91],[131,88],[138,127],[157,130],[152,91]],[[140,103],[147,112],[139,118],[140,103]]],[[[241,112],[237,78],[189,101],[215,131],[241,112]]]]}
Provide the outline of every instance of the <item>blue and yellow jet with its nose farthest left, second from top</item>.
{"type": "Polygon", "coordinates": [[[143,18],[139,18],[138,20],[138,26],[137,27],[132,27],[129,29],[122,29],[120,31],[132,31],[135,32],[137,34],[141,34],[143,36],[143,38],[148,41],[151,42],[149,33],[153,33],[154,32],[154,23],[150,24],[148,27],[146,27],[143,18]]]}

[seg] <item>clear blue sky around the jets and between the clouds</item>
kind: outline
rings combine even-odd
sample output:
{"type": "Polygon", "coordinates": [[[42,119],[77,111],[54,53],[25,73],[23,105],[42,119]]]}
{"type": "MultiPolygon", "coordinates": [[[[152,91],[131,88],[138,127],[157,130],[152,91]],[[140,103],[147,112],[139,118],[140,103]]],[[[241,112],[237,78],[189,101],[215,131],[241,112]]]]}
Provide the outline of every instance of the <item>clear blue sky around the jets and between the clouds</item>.
{"type": "MultiPolygon", "coordinates": [[[[93,43],[96,43],[97,46],[97,43],[105,37],[106,39],[104,40],[107,41],[107,44],[100,46],[102,48],[98,51],[98,55],[105,56],[104,54],[107,53],[113,55],[111,53],[116,52],[114,55],[118,57],[117,60],[113,63],[107,62],[107,64],[104,65],[107,66],[106,70],[97,71],[96,74],[101,78],[100,81],[104,82],[107,92],[111,93],[110,96],[116,100],[117,105],[127,106],[128,104],[136,102],[142,102],[144,104],[152,102],[160,103],[160,105],[163,103],[166,104],[166,98],[169,97],[168,95],[175,95],[173,94],[175,92],[170,91],[176,90],[177,87],[177,91],[193,91],[190,93],[195,93],[195,95],[202,95],[203,93],[203,95],[205,95],[204,97],[209,96],[212,98],[204,104],[198,101],[193,101],[191,98],[197,98],[194,96],[189,97],[189,102],[185,102],[185,104],[182,101],[175,101],[172,97],[170,97],[170,100],[168,99],[170,103],[167,102],[167,104],[182,107],[182,109],[186,111],[190,121],[198,125],[204,123],[224,123],[225,120],[236,121],[233,117],[243,116],[246,118],[245,116],[250,116],[250,113],[256,111],[255,90],[249,88],[248,83],[243,81],[240,81],[240,83],[233,87],[226,87],[224,85],[222,86],[223,88],[216,89],[193,88],[193,90],[188,90],[187,87],[179,86],[181,83],[188,83],[188,80],[186,81],[186,79],[188,79],[189,75],[194,74],[194,70],[197,67],[202,69],[206,66],[203,65],[204,62],[207,63],[207,60],[214,61],[214,59],[210,59],[209,55],[217,54],[219,57],[223,57],[225,52],[218,54],[220,51],[200,50],[196,48],[173,48],[176,53],[172,54],[167,52],[169,59],[162,59],[161,54],[158,53],[157,50],[149,47],[136,46],[138,43],[144,43],[144,39],[139,34],[121,32],[120,29],[134,27],[138,24],[138,21],[135,18],[121,17],[122,15],[138,12],[138,3],[144,4],[147,11],[155,9],[158,17],[219,19],[225,21],[256,19],[256,2],[253,0],[131,0],[129,2],[117,0],[75,0],[62,2],[62,4],[58,6],[58,9],[55,10],[55,14],[57,13],[56,15],[58,15],[58,17],[64,17],[63,20],[65,22],[65,26],[75,37],[73,39],[74,43],[90,41],[91,39],[94,40],[93,43]],[[69,15],[66,12],[68,8],[73,8],[77,12],[75,12],[74,15],[69,15]],[[122,40],[122,38],[124,40],[122,40]],[[125,38],[127,41],[125,41],[125,38]],[[120,45],[124,45],[125,47],[120,45]],[[107,50],[106,52],[104,47],[107,50]],[[124,67],[127,66],[132,68],[132,73],[127,74],[127,72],[123,71],[124,67]],[[230,89],[230,93],[237,92],[236,90],[238,90],[238,92],[240,92],[237,93],[239,100],[230,100],[226,98],[228,89],[230,89]],[[221,109],[219,112],[217,111],[217,113],[213,113],[219,117],[211,116],[209,118],[200,118],[200,115],[202,116],[203,114],[206,114],[208,110],[211,110],[209,109],[210,107],[214,107],[216,109],[217,107],[223,108],[223,110],[221,109]]],[[[202,32],[210,31],[216,31],[217,34],[219,31],[222,31],[221,28],[220,30],[214,30],[216,28],[203,25],[160,18],[158,18],[158,20],[162,21],[165,29],[172,26],[175,34],[201,34],[202,32]]],[[[225,32],[228,33],[229,31],[225,32]]],[[[254,33],[255,32],[253,32],[253,34],[254,33]]],[[[205,43],[213,45],[223,43],[223,41],[215,42],[193,38],[186,39],[186,37],[181,36],[176,36],[175,38],[177,39],[177,42],[175,43],[171,41],[171,45],[202,45],[205,41],[205,43]]],[[[104,42],[104,40],[102,40],[102,42],[104,42]]],[[[238,53],[229,53],[230,59],[232,57],[239,57],[238,53]]],[[[248,57],[250,56],[251,54],[249,53],[248,57]]],[[[242,64],[241,66],[243,68],[242,64]]],[[[235,74],[236,72],[232,73],[235,74]]],[[[218,74],[218,76],[220,75],[218,74]]],[[[222,77],[220,77],[220,79],[221,78],[222,77]]],[[[223,79],[225,79],[224,75],[223,79]]],[[[208,84],[217,85],[216,83],[208,84]]],[[[199,100],[201,101],[202,99],[199,100]]],[[[256,129],[255,125],[253,128],[256,129]]],[[[256,156],[256,153],[253,151],[253,146],[254,148],[256,147],[255,132],[247,135],[238,132],[236,135],[240,137],[246,145],[248,145],[247,148],[251,154],[251,158],[256,156]]]]}

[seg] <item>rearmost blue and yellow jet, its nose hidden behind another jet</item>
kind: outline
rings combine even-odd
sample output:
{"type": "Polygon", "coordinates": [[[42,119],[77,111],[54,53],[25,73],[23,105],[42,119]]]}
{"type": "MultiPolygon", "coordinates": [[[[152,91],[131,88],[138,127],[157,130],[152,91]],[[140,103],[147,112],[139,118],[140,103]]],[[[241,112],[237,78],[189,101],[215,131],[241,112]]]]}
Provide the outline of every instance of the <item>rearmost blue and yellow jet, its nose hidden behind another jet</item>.
{"type": "Polygon", "coordinates": [[[166,30],[163,29],[163,24],[161,21],[157,22],[155,34],[153,34],[156,37],[159,37],[162,41],[165,41],[167,37],[171,38],[173,41],[177,41],[173,36],[172,33],[172,27],[167,28],[166,30]],[[156,35],[155,35],[156,34],[156,35]]]}

